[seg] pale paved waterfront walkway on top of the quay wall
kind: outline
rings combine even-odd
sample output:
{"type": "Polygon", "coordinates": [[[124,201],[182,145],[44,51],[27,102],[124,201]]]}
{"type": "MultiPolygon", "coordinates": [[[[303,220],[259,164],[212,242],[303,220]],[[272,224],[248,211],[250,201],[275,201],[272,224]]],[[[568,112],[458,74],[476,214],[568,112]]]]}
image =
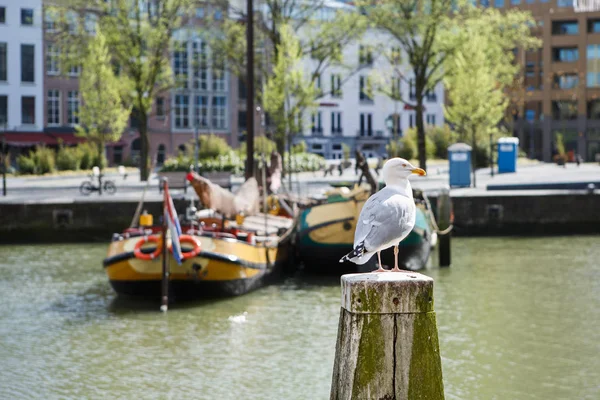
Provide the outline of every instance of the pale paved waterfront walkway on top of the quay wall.
{"type": "MultiPolygon", "coordinates": [[[[430,191],[436,190],[448,185],[448,162],[431,161],[428,163],[427,176],[411,177],[411,183],[414,188],[430,191]]],[[[88,201],[137,201],[143,192],[144,187],[148,187],[146,199],[150,201],[159,201],[162,196],[158,192],[158,177],[154,173],[150,177],[149,183],[140,182],[139,173],[129,173],[127,178],[116,173],[106,175],[117,186],[117,193],[114,195],[98,195],[92,193],[89,196],[83,196],[79,193],[79,186],[88,179],[85,175],[80,176],[23,176],[8,177],[6,197],[0,195],[0,202],[8,203],[38,203],[38,202],[88,202],[88,201]]],[[[356,181],[358,176],[354,168],[346,169],[342,175],[337,170],[333,175],[324,176],[322,171],[304,172],[293,176],[293,188],[299,191],[300,195],[317,194],[323,192],[332,183],[356,181]]],[[[381,178],[380,178],[381,180],[381,178]]],[[[234,177],[232,182],[234,187],[243,181],[241,177],[234,177]]],[[[494,174],[492,177],[490,169],[479,169],[477,171],[477,188],[453,188],[452,196],[488,196],[494,195],[514,195],[516,192],[523,194],[525,191],[487,190],[488,185],[508,185],[508,184],[538,184],[538,183],[572,183],[572,182],[598,182],[600,181],[600,165],[597,163],[585,163],[579,167],[576,164],[568,164],[566,168],[556,164],[545,164],[532,162],[529,160],[520,160],[516,173],[494,174]]],[[[285,179],[287,186],[288,180],[285,179]]],[[[597,185],[597,189],[600,186],[597,185]]],[[[526,192],[535,192],[541,194],[539,190],[528,190],[526,192]]],[[[545,191],[548,192],[548,191],[545,191]]],[[[183,190],[173,190],[174,195],[183,196],[183,190]]],[[[188,198],[195,196],[193,189],[187,191],[188,198]]]]}

